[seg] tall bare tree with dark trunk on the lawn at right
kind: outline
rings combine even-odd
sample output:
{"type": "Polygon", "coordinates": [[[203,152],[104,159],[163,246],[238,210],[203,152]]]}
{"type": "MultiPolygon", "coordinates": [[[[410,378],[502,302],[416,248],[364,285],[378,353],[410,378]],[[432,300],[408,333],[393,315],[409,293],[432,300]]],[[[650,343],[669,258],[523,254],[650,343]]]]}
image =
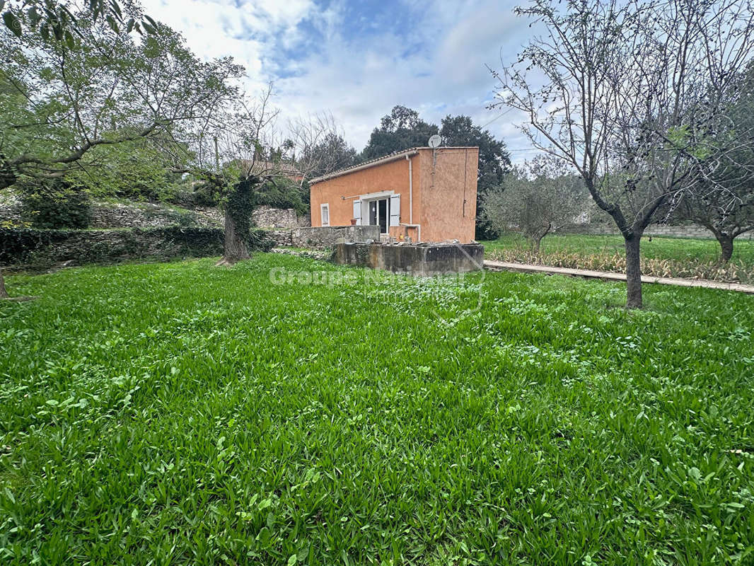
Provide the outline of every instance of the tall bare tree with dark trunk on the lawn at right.
{"type": "Polygon", "coordinates": [[[754,12],[745,0],[535,0],[517,13],[545,35],[493,72],[497,104],[523,112],[532,143],[574,167],[615,221],[627,306],[641,307],[645,228],[710,180],[710,155],[722,161],[746,143],[717,137],[713,125],[719,93],[752,54],[754,12]]]}

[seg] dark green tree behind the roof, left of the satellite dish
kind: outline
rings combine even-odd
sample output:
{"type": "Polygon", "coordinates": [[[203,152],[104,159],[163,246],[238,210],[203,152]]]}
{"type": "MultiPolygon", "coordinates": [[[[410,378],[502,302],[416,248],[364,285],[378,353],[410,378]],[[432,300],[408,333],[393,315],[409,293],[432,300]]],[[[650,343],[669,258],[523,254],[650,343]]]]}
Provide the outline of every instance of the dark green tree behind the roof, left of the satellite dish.
{"type": "Polygon", "coordinates": [[[440,129],[419,118],[416,110],[394,106],[390,114],[382,117],[379,127],[372,131],[369,142],[359,155],[359,161],[368,161],[411,147],[426,146],[427,140],[439,133],[440,129]]]}

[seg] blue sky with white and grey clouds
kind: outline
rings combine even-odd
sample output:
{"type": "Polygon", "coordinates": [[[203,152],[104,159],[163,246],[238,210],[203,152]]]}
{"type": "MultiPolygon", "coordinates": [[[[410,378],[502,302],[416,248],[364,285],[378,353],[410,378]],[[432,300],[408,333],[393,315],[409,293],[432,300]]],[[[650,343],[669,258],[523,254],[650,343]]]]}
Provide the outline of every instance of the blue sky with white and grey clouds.
{"type": "Polygon", "coordinates": [[[440,124],[470,115],[511,150],[534,153],[521,116],[487,109],[495,79],[531,35],[516,2],[467,0],[143,0],[146,14],[182,32],[199,57],[230,55],[247,90],[274,83],[295,118],[329,112],[357,151],[383,115],[402,104],[440,124]]]}

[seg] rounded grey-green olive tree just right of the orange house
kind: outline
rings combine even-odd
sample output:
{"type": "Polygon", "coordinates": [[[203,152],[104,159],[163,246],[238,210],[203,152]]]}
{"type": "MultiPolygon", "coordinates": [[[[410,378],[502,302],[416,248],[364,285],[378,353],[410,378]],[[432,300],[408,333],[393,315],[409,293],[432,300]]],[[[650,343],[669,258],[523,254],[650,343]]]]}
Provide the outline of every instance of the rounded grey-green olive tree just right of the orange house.
{"type": "Polygon", "coordinates": [[[552,158],[538,158],[489,190],[483,215],[498,232],[521,232],[538,254],[542,238],[575,223],[588,198],[581,177],[552,158]]]}

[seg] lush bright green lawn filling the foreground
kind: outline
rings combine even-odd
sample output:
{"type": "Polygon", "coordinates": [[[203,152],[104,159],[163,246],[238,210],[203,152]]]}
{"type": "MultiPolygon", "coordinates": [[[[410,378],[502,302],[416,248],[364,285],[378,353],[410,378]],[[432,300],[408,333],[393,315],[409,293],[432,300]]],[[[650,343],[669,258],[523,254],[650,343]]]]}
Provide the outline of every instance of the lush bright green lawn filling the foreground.
{"type": "Polygon", "coordinates": [[[212,264],[8,277],[0,562],[752,563],[752,297],[212,264]]]}

